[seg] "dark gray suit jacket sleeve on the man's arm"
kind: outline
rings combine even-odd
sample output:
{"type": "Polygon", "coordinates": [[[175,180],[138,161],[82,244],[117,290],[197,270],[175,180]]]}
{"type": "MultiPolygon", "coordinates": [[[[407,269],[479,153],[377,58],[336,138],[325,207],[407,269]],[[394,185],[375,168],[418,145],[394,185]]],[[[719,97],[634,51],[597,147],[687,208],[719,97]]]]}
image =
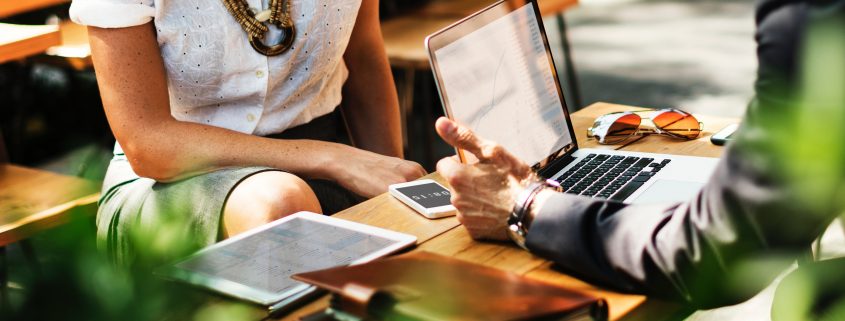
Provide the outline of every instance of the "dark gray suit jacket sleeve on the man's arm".
{"type": "MultiPolygon", "coordinates": [[[[764,23],[758,41],[770,39],[764,23]]],[[[778,50],[795,47],[767,42],[761,62],[793,59],[778,50]]],[[[758,81],[737,140],[694,199],[641,206],[556,194],[539,209],[528,248],[588,281],[697,307],[758,292],[841,213],[845,177],[842,155],[806,170],[796,164],[794,153],[807,147],[794,144],[803,114],[777,83],[789,82],[758,81]]]]}

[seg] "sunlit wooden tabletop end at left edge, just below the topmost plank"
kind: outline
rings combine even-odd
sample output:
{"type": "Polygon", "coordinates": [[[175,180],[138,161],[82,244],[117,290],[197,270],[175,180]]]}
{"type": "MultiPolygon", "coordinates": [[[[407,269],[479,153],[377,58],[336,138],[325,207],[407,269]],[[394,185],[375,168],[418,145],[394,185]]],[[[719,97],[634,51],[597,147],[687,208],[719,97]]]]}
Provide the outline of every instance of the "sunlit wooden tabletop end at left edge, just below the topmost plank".
{"type": "Polygon", "coordinates": [[[61,43],[58,26],[0,23],[0,64],[40,54],[61,43]]]}

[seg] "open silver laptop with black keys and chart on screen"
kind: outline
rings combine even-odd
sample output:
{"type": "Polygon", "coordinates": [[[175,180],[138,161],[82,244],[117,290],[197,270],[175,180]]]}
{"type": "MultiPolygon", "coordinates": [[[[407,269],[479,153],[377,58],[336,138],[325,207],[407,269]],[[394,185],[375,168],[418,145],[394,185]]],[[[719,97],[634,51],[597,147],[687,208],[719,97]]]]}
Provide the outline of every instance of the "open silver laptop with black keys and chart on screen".
{"type": "Polygon", "coordinates": [[[498,1],[426,38],[446,116],[566,193],[625,203],[698,193],[718,159],[578,148],[537,3],[514,3],[498,1]]]}

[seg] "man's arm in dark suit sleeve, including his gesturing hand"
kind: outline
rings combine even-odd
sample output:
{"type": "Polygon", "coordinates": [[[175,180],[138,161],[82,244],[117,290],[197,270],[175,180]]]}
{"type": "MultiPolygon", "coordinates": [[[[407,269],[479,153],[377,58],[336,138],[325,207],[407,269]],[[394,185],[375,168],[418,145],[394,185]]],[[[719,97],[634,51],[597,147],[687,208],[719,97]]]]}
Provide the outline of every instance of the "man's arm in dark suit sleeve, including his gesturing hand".
{"type": "MultiPolygon", "coordinates": [[[[527,247],[595,283],[700,308],[736,303],[768,285],[845,209],[845,16],[815,12],[833,18],[808,23],[816,32],[808,33],[801,64],[802,99],[759,91],[737,141],[694,199],[625,205],[546,191],[523,222],[527,247]]],[[[474,165],[446,158],[437,166],[454,189],[458,220],[474,238],[506,239],[514,195],[531,179],[527,165],[447,119],[437,131],[479,156],[474,165]]]]}

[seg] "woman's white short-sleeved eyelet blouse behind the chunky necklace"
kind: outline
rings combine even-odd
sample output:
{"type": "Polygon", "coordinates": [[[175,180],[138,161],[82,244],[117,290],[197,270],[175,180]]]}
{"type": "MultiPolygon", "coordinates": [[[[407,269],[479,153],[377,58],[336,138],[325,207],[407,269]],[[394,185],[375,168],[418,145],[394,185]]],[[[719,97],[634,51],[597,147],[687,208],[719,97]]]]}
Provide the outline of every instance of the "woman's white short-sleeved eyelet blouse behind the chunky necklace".
{"type": "MultiPolygon", "coordinates": [[[[361,0],[288,1],[296,39],[275,57],[252,49],[222,0],[73,0],[70,16],[101,28],[152,20],[173,117],[263,136],[340,104],[348,76],[343,53],[361,6],[361,0]]],[[[247,0],[256,9],[268,2],[247,0]]],[[[281,31],[270,30],[265,43],[278,43],[281,31]]]]}

